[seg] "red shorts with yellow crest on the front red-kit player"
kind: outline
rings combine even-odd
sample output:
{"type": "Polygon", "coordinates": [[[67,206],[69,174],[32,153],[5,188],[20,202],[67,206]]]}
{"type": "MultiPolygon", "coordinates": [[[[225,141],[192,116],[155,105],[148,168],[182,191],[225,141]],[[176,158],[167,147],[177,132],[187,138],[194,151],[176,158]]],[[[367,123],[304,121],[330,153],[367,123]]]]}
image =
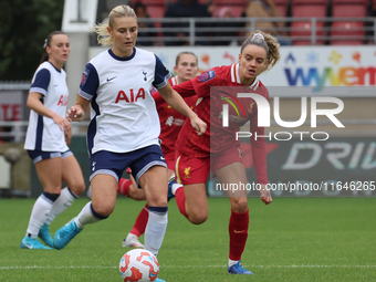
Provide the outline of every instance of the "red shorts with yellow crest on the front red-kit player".
{"type": "Polygon", "coordinates": [[[176,150],[175,173],[178,184],[205,184],[211,169],[211,176],[227,165],[243,163],[242,152],[239,147],[231,147],[221,154],[212,154],[210,157],[190,157],[176,150]]]}

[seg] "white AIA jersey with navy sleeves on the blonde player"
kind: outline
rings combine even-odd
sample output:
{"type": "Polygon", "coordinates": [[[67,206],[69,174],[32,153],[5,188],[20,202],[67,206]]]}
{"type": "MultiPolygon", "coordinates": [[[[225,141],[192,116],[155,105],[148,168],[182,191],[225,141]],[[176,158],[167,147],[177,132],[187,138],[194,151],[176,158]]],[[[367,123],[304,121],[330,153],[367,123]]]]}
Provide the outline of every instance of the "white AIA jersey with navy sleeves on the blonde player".
{"type": "Polygon", "coordinates": [[[91,101],[91,154],[158,145],[160,125],[150,90],[166,86],[171,75],[154,53],[133,51],[129,58],[118,58],[108,49],[86,64],[79,94],[91,101]]]}

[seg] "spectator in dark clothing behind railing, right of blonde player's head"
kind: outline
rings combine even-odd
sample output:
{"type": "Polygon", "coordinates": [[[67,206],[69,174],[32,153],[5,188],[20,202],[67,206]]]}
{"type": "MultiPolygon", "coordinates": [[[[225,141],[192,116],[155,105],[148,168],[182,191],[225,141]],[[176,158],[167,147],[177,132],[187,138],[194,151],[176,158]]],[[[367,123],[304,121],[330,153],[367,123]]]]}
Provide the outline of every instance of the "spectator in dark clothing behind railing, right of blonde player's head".
{"type": "MultiPolygon", "coordinates": [[[[178,0],[167,6],[165,18],[210,18],[209,7],[201,4],[198,0],[178,0]]],[[[196,28],[210,27],[208,23],[197,23],[196,28]]],[[[163,28],[189,28],[189,23],[164,22],[163,28]]],[[[188,45],[189,32],[175,31],[164,32],[165,36],[182,38],[182,41],[167,41],[166,45],[188,45]]],[[[197,36],[208,36],[208,32],[196,32],[197,36]]],[[[208,45],[207,41],[196,41],[197,45],[208,45]]]]}

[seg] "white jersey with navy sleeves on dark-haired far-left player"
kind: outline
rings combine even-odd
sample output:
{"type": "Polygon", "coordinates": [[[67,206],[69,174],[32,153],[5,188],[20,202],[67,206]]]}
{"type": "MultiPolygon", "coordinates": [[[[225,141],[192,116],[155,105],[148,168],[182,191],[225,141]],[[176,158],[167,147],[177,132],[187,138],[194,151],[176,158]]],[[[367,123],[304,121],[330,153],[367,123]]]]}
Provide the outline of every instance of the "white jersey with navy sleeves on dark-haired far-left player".
{"type": "MultiPolygon", "coordinates": [[[[41,102],[52,112],[65,117],[69,91],[65,71],[58,70],[50,62],[43,62],[36,69],[32,79],[30,92],[41,93],[41,102]]],[[[64,132],[52,118],[41,116],[30,111],[29,127],[24,148],[29,150],[65,152],[64,132]]]]}

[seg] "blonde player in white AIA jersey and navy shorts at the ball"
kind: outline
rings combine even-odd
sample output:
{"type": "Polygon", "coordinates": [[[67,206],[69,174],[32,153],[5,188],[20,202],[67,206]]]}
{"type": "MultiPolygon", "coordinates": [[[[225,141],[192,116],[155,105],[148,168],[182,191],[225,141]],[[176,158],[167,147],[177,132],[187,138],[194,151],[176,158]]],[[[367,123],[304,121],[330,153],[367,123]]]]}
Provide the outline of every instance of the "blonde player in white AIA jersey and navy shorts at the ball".
{"type": "MultiPolygon", "coordinates": [[[[158,113],[153,86],[175,109],[188,116],[198,134],[206,124],[167,83],[169,72],[152,52],[135,48],[137,17],[128,6],[115,7],[108,22],[95,27],[98,42],[111,49],[91,60],[83,73],[70,121],[82,121],[88,104],[92,201],[54,237],[64,248],[88,223],[107,218],[115,208],[117,182],[132,168],[149,206],[145,249],[157,255],[167,227],[167,166],[158,144],[158,113]]],[[[160,279],[155,281],[163,281],[160,279]]]]}

